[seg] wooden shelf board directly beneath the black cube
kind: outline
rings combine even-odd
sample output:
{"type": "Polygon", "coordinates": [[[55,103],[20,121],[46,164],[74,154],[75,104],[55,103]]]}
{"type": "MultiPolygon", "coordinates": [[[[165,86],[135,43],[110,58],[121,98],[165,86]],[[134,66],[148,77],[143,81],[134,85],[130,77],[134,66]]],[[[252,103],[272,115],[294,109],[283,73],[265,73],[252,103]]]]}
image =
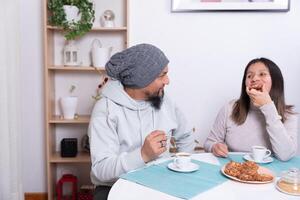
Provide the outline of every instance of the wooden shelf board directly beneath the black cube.
{"type": "Polygon", "coordinates": [[[76,157],[61,157],[60,152],[55,152],[50,156],[51,163],[90,163],[91,157],[87,152],[78,152],[76,157]]]}

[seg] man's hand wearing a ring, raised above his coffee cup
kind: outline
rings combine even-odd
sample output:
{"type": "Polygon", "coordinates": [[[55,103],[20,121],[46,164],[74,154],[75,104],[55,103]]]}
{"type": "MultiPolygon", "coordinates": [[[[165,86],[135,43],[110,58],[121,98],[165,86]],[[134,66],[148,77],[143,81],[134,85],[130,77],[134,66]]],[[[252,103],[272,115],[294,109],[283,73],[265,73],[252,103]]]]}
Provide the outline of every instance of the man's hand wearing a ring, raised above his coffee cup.
{"type": "Polygon", "coordinates": [[[145,163],[154,160],[167,150],[167,136],[163,131],[151,132],[144,141],[141,154],[145,163]]]}

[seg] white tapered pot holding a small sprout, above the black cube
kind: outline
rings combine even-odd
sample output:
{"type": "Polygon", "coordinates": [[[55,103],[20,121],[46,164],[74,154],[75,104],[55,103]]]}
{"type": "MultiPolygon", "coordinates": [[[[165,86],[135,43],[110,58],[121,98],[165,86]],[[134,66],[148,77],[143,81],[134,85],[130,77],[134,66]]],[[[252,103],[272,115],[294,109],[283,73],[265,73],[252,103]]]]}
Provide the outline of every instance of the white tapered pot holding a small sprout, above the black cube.
{"type": "Polygon", "coordinates": [[[63,97],[60,99],[64,119],[74,119],[78,97],[63,97]]]}

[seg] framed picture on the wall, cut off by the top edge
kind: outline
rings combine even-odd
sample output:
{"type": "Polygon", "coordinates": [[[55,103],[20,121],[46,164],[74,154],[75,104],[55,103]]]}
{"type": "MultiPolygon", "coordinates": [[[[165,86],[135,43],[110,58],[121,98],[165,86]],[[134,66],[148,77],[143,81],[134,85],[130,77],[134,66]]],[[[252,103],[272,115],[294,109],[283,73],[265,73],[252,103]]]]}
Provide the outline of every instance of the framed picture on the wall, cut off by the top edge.
{"type": "Polygon", "coordinates": [[[290,0],[172,0],[172,12],[198,11],[281,11],[290,9],[290,0]]]}

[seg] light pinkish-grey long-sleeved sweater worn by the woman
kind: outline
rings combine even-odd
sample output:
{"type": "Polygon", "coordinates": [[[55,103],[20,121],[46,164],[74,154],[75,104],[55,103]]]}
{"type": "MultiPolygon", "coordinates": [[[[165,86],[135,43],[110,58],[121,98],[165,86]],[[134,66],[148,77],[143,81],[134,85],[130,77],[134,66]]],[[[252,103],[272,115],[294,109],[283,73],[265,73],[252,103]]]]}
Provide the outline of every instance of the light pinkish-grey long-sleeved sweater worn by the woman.
{"type": "Polygon", "coordinates": [[[283,161],[296,154],[296,114],[289,114],[282,123],[272,102],[259,108],[251,106],[246,121],[237,125],[231,118],[234,102],[231,101],[220,110],[204,143],[206,151],[211,152],[215,143],[223,142],[233,152],[250,152],[253,145],[265,146],[283,161]]]}

